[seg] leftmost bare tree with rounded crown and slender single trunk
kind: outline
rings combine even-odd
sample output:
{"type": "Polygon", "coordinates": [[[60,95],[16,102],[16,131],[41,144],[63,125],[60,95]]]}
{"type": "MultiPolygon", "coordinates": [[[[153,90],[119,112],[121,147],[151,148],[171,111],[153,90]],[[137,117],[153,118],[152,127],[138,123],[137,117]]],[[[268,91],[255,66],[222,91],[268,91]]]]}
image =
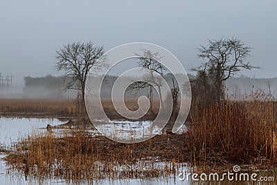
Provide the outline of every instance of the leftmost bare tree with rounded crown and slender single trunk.
{"type": "Polygon", "coordinates": [[[81,100],[84,105],[84,89],[87,76],[91,69],[100,70],[105,62],[96,62],[103,55],[103,46],[94,46],[93,42],[73,42],[64,45],[56,51],[58,60],[55,65],[57,71],[64,71],[66,76],[71,77],[67,87],[77,85],[81,89],[81,100]]]}

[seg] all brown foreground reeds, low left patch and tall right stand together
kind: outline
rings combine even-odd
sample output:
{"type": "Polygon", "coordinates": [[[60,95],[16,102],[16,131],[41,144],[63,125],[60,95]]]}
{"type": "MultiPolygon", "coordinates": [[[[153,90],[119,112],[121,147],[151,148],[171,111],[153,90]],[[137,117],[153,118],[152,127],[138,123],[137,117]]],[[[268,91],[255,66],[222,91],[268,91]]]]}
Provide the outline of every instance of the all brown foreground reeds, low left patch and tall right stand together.
{"type": "MultiPolygon", "coordinates": [[[[127,103],[136,106],[131,100],[127,103]]],[[[109,100],[104,107],[112,114],[109,100]]],[[[172,166],[184,162],[199,171],[235,164],[276,168],[276,107],[269,100],[193,103],[184,134],[163,134],[137,144],[84,132],[35,135],[12,146],[6,160],[27,174],[66,179],[170,175],[176,172],[172,166]]]]}

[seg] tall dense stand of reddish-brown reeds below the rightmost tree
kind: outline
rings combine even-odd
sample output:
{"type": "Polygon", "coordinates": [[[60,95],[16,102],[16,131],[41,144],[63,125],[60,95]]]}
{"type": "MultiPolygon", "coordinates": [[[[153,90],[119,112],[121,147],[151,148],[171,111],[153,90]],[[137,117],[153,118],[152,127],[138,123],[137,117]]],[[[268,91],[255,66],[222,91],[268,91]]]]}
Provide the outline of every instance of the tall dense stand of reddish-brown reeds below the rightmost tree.
{"type": "Polygon", "coordinates": [[[197,103],[190,111],[190,164],[202,170],[234,164],[274,168],[277,157],[276,103],[197,103]]]}

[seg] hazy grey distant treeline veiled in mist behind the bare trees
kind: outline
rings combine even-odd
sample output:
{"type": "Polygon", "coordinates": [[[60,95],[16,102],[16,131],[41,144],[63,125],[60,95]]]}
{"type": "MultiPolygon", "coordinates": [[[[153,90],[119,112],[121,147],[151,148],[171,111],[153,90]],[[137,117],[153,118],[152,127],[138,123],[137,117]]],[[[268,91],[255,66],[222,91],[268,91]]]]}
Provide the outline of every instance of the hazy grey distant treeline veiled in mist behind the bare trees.
{"type": "MultiPolygon", "coordinates": [[[[188,74],[190,80],[193,80],[195,76],[188,74]]],[[[116,81],[117,76],[107,76],[102,87],[102,97],[111,97],[111,88],[116,81]]],[[[126,78],[127,81],[132,77],[126,78]]],[[[164,76],[170,87],[172,86],[172,77],[170,74],[164,76]]],[[[39,78],[33,78],[30,76],[24,77],[23,94],[26,97],[46,97],[46,98],[75,98],[78,90],[66,89],[66,83],[70,78],[64,78],[62,76],[44,76],[39,78]]],[[[95,83],[100,83],[98,78],[95,79],[95,83]]],[[[277,78],[249,78],[239,77],[230,78],[226,80],[226,94],[229,98],[242,99],[255,94],[257,91],[263,92],[263,94],[274,96],[276,98],[277,91],[277,78]]],[[[148,89],[142,89],[136,96],[145,95],[148,93],[148,89]]],[[[157,93],[154,94],[157,96],[157,93]]],[[[126,94],[127,98],[134,97],[134,94],[126,94]]]]}

